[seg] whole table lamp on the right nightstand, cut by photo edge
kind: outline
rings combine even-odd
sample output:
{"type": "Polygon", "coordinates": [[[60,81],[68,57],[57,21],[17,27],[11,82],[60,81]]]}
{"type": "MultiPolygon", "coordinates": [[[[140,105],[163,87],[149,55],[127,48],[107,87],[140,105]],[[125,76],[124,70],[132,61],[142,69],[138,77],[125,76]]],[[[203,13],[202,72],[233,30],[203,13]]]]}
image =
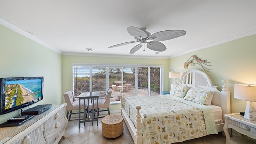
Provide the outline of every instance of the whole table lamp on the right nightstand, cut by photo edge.
{"type": "Polygon", "coordinates": [[[234,98],[247,100],[244,118],[256,121],[256,109],[252,103],[256,102],[256,85],[235,84],[234,98]]]}

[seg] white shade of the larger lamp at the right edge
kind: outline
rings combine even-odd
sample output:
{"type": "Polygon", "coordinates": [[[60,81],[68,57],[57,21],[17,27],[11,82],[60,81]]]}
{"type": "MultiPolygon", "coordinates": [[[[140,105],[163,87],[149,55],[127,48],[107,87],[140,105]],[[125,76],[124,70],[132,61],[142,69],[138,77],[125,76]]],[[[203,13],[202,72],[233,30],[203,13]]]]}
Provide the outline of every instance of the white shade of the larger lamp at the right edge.
{"type": "Polygon", "coordinates": [[[235,84],[234,98],[256,101],[256,85],[235,84]]]}

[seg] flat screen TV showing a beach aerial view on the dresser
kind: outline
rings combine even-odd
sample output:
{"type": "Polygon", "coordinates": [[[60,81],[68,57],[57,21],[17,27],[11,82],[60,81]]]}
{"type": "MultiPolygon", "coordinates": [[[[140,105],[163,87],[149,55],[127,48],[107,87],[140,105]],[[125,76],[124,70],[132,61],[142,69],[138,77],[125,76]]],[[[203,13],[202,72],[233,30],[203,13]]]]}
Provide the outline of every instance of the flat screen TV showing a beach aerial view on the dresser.
{"type": "Polygon", "coordinates": [[[43,77],[12,77],[0,79],[0,115],[43,100],[43,77]]]}

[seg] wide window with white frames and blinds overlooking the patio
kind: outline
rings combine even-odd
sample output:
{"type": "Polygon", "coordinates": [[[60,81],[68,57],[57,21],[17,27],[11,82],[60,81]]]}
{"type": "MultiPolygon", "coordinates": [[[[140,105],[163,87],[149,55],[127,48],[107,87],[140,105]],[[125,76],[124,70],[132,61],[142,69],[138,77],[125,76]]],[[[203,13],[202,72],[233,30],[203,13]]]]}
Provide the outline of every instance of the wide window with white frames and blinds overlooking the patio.
{"type": "Polygon", "coordinates": [[[112,89],[110,101],[124,97],[160,95],[162,91],[162,66],[107,66],[73,64],[73,91],[100,91],[104,98],[112,89]]]}

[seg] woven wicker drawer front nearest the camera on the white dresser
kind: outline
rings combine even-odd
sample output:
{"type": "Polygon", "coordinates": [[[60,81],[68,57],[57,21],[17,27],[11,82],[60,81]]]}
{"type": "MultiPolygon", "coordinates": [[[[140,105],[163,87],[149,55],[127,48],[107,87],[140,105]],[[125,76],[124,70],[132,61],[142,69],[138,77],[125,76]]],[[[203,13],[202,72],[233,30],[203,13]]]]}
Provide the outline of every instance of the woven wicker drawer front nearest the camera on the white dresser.
{"type": "Polygon", "coordinates": [[[46,144],[43,131],[42,124],[15,144],[46,144]]]}

